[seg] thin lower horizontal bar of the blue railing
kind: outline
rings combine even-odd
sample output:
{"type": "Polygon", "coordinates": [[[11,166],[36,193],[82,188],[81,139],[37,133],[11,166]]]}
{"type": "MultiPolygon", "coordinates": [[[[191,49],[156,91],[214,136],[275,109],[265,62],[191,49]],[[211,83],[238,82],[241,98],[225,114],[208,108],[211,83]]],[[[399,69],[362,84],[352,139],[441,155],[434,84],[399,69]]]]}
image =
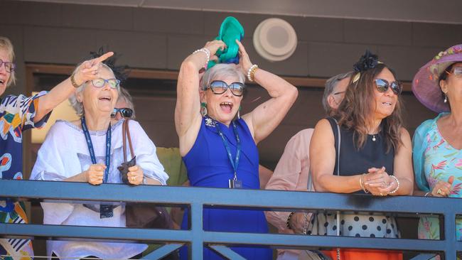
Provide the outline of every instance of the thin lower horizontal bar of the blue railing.
{"type": "MultiPolygon", "coordinates": [[[[444,240],[383,239],[366,237],[301,236],[295,234],[254,234],[235,232],[202,232],[204,243],[233,245],[267,245],[274,248],[354,247],[412,251],[444,251],[444,240]]],[[[65,225],[0,223],[0,237],[28,237],[57,240],[92,239],[93,242],[192,242],[187,230],[129,229],[120,227],[82,227],[65,225]]],[[[258,247],[258,246],[254,246],[258,247]]],[[[462,251],[462,242],[456,242],[462,251]]]]}

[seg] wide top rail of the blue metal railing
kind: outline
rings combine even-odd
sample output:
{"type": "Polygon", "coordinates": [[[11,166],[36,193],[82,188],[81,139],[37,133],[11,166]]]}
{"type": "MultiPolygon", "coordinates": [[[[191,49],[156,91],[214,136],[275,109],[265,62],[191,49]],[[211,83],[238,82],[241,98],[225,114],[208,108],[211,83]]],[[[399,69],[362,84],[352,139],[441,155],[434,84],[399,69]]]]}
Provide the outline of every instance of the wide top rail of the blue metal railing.
{"type": "Polygon", "coordinates": [[[116,202],[159,202],[164,205],[203,205],[257,207],[267,210],[319,209],[365,212],[420,212],[443,214],[448,209],[462,214],[457,198],[375,197],[335,193],[308,193],[279,190],[230,190],[173,186],[68,183],[33,180],[0,180],[0,197],[30,200],[87,200],[116,202]],[[117,193],[114,193],[117,190],[117,193]],[[213,196],[210,196],[213,194],[213,196]],[[230,195],[232,194],[232,195],[230,195]],[[268,200],[277,197],[277,200],[268,200]]]}

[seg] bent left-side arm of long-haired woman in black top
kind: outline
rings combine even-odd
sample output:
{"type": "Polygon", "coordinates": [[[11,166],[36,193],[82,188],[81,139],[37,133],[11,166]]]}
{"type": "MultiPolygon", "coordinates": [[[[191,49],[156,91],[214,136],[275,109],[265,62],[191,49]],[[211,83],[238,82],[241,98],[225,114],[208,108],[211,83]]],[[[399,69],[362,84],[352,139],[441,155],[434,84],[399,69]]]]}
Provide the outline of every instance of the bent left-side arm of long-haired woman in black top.
{"type": "Polygon", "coordinates": [[[362,190],[362,173],[353,176],[333,175],[335,168],[335,141],[331,124],[322,119],[316,124],[310,143],[310,169],[317,192],[354,193],[362,190]]]}

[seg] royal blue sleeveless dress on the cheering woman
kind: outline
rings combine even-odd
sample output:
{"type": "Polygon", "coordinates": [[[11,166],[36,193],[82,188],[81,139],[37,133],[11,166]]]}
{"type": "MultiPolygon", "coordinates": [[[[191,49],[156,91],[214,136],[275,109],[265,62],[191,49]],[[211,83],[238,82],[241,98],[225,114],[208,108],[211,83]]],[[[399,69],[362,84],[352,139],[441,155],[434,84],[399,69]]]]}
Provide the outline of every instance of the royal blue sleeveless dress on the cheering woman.
{"type": "MultiPolygon", "coordinates": [[[[241,141],[237,179],[242,180],[245,189],[259,189],[257,145],[243,119],[236,120],[235,124],[241,141]]],[[[183,157],[191,186],[229,188],[228,181],[233,178],[234,170],[217,127],[227,139],[232,158],[235,159],[237,141],[232,125],[228,128],[225,124],[204,117],[193,148],[183,157]]],[[[182,229],[188,229],[187,214],[185,212],[183,217],[182,229]]],[[[204,209],[203,228],[217,232],[268,232],[264,213],[257,210],[204,209]]],[[[272,250],[268,248],[232,247],[232,250],[246,259],[272,259],[272,250]]],[[[181,259],[188,259],[186,247],[181,249],[180,254],[181,259]]],[[[204,249],[203,254],[204,259],[222,259],[210,249],[204,249]]]]}

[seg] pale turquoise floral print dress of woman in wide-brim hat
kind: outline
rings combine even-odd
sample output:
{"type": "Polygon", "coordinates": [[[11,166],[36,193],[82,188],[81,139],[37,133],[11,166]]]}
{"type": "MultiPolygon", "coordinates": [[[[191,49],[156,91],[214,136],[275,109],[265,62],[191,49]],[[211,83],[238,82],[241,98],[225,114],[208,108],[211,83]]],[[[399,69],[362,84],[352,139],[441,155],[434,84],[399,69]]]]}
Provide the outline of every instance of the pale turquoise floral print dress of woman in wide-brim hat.
{"type": "MultiPolygon", "coordinates": [[[[448,178],[453,175],[454,182],[449,197],[461,197],[462,150],[453,148],[441,136],[436,122],[442,115],[444,114],[440,114],[436,119],[431,121],[428,131],[422,136],[422,148],[424,148],[424,151],[421,158],[421,170],[423,170],[429,190],[433,190],[439,180],[447,182],[448,178]]],[[[456,219],[456,229],[457,240],[461,240],[462,219],[456,219]]],[[[418,231],[419,239],[440,239],[438,217],[421,217],[418,231]]]]}

